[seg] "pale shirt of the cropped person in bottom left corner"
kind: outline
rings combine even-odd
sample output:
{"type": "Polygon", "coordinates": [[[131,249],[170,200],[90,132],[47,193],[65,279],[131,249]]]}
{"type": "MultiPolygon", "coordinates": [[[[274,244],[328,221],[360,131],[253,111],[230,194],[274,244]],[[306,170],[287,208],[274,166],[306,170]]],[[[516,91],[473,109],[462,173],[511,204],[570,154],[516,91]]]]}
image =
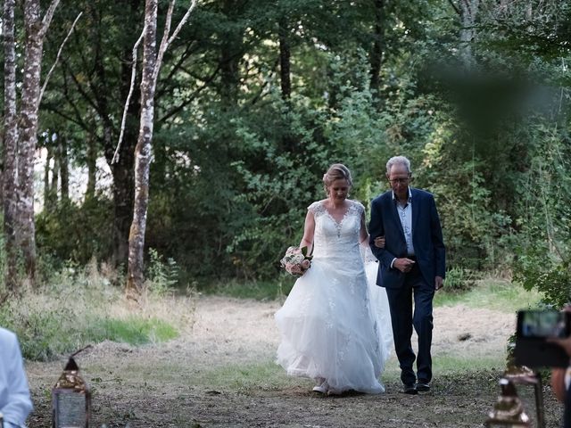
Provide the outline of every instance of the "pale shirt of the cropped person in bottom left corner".
{"type": "Polygon", "coordinates": [[[26,426],[33,406],[16,335],[0,327],[0,413],[4,428],[26,426]]]}

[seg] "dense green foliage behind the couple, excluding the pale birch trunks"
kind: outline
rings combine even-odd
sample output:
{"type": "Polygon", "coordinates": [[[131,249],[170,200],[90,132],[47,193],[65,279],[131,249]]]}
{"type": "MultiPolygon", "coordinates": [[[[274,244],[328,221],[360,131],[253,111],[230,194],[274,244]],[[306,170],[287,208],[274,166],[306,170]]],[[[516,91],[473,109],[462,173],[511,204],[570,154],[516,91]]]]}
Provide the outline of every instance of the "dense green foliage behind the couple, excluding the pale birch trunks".
{"type": "MultiPolygon", "coordinates": [[[[352,169],[351,197],[367,207],[387,188],[385,161],[405,154],[413,185],[436,197],[450,288],[472,272],[513,271],[550,304],[569,300],[568,4],[534,2],[530,14],[525,2],[480,2],[469,44],[458,14],[435,0],[235,6],[201,4],[164,58],[145,235],[149,292],[276,281],[306,207],[325,196],[320,177],[331,163],[352,169]],[[281,92],[285,65],[291,95],[281,92]]],[[[119,124],[110,112],[124,102],[125,55],[138,34],[122,29],[132,16],[143,25],[140,8],[88,8],[46,88],[38,131],[65,137],[78,167],[114,149],[119,124]]],[[[54,40],[76,16],[61,12],[54,40]]],[[[57,45],[46,45],[46,59],[57,45]]],[[[132,142],[135,113],[127,128],[132,142]]],[[[122,202],[101,194],[39,213],[40,276],[69,261],[110,259],[113,206],[122,202]]]]}

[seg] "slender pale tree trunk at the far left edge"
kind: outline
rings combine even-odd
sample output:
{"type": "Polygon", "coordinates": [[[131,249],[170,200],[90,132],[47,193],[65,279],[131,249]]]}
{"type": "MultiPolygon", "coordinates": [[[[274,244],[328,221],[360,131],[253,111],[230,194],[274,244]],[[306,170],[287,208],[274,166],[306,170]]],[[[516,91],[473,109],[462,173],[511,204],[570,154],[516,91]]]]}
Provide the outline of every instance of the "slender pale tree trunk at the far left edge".
{"type": "Polygon", "coordinates": [[[4,239],[6,270],[4,281],[10,292],[18,288],[16,250],[16,198],[18,187],[18,118],[16,107],[16,43],[14,0],[4,0],[4,239]]]}

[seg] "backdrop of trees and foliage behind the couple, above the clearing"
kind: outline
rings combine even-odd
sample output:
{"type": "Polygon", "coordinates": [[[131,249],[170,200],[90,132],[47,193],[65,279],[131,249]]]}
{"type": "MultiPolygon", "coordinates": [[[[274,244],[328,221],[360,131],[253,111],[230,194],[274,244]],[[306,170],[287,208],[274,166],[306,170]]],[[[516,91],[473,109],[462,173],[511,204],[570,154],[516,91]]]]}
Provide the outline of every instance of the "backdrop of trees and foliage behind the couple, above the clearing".
{"type": "Polygon", "coordinates": [[[368,207],[396,154],[449,286],[569,299],[571,4],[3,3],[2,300],[93,260],[136,292],[151,257],[183,289],[276,281],[327,167],[368,207]]]}

